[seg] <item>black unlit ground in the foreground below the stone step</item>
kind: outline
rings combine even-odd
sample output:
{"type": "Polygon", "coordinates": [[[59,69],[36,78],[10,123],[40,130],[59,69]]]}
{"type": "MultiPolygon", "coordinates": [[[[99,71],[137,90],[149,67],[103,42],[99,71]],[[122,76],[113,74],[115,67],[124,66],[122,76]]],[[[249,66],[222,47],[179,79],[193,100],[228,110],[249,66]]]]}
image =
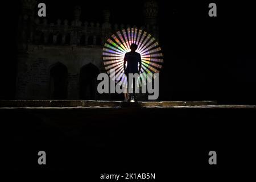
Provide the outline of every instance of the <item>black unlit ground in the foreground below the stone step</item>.
{"type": "Polygon", "coordinates": [[[7,169],[255,169],[255,106],[2,107],[7,169]],[[38,151],[47,165],[38,165],[38,151]],[[208,152],[217,152],[210,166],[208,152]]]}

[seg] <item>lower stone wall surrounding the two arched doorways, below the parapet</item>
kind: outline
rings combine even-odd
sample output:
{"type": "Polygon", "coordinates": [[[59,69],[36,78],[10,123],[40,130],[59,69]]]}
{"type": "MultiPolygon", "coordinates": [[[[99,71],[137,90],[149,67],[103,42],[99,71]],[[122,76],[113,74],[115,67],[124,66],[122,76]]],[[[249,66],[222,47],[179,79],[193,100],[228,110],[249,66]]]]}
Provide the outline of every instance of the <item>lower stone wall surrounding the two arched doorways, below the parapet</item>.
{"type": "Polygon", "coordinates": [[[56,63],[68,69],[68,99],[79,99],[80,69],[89,63],[102,70],[102,47],[29,46],[18,61],[18,99],[49,99],[50,70],[56,63]]]}

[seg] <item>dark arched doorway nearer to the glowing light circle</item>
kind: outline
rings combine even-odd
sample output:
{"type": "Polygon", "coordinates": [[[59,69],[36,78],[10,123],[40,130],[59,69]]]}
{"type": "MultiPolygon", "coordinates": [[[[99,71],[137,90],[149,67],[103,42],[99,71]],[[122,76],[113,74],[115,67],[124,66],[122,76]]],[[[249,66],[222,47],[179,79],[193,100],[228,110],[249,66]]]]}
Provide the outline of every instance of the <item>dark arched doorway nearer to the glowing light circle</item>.
{"type": "Polygon", "coordinates": [[[80,70],[80,99],[97,100],[98,68],[92,64],[84,65],[80,70]]]}

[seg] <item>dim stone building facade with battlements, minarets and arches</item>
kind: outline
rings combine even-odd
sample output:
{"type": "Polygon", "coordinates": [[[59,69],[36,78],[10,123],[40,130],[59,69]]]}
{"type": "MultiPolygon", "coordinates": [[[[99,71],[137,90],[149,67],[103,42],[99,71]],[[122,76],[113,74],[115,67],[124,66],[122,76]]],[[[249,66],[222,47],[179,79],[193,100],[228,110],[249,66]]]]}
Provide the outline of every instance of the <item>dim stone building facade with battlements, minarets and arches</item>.
{"type": "MultiPolygon", "coordinates": [[[[36,0],[22,0],[19,16],[16,98],[24,100],[108,100],[97,94],[97,76],[105,72],[102,48],[113,32],[126,28],[110,24],[110,11],[104,22],[82,21],[81,7],[74,19],[48,23],[38,19],[36,0]]],[[[144,3],[144,28],[158,38],[154,1],[144,3]]]]}

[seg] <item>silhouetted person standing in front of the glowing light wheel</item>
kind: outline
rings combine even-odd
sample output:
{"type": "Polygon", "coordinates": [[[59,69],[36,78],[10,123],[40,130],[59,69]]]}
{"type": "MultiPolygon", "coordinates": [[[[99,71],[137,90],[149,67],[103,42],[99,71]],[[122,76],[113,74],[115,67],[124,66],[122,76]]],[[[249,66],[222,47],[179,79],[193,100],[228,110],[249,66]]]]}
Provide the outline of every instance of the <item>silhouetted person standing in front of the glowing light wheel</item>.
{"type": "MultiPolygon", "coordinates": [[[[123,69],[125,69],[125,75],[127,77],[128,86],[129,86],[129,73],[139,74],[139,72],[141,72],[141,55],[138,52],[135,52],[137,48],[138,48],[137,44],[131,44],[130,46],[131,51],[127,52],[125,54],[125,58],[123,59],[123,69]],[[126,62],[127,62],[127,67],[125,68],[126,62]],[[139,69],[138,69],[138,64],[139,64],[139,69]]],[[[131,81],[133,81],[133,94],[131,94],[131,98],[129,98],[129,93],[126,93],[125,101],[130,101],[130,100],[137,101],[136,95],[134,93],[135,80],[131,80],[131,81]]]]}

